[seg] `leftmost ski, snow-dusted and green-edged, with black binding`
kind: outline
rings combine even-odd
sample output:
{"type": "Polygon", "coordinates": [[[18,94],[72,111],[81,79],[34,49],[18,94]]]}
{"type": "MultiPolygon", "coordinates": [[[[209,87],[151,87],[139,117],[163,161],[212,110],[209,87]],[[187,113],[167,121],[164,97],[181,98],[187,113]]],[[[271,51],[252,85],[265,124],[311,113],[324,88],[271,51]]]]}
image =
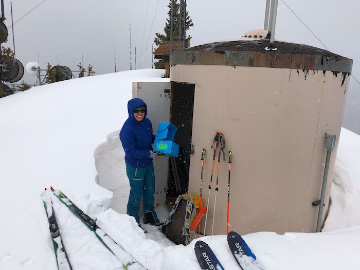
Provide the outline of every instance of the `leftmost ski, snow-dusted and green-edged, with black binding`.
{"type": "Polygon", "coordinates": [[[51,192],[45,189],[45,192],[41,195],[41,197],[43,199],[46,216],[49,222],[49,230],[58,269],[72,270],[73,268],[71,267],[64,243],[61,239],[60,229],[56,220],[56,214],[52,208],[51,192]]]}

